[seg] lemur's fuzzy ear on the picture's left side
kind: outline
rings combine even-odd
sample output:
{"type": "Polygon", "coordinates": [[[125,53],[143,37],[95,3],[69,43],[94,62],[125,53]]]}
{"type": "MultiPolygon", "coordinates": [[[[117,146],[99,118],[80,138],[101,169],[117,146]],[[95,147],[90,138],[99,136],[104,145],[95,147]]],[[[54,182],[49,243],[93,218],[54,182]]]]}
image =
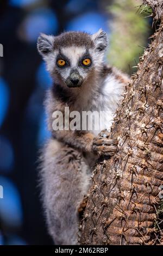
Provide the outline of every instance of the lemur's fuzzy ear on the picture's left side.
{"type": "Polygon", "coordinates": [[[53,35],[41,34],[37,40],[37,50],[42,56],[45,56],[47,53],[52,52],[53,50],[53,35]]]}

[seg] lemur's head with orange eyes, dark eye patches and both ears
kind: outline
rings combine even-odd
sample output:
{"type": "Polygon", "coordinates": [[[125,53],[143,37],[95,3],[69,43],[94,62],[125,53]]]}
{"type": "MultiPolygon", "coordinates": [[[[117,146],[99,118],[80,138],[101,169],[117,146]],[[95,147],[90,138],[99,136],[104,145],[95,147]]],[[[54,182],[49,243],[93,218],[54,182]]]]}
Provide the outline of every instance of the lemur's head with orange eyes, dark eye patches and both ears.
{"type": "Polygon", "coordinates": [[[108,36],[100,29],[96,34],[65,32],[58,36],[41,34],[37,48],[55,81],[76,88],[101,70],[108,36]]]}

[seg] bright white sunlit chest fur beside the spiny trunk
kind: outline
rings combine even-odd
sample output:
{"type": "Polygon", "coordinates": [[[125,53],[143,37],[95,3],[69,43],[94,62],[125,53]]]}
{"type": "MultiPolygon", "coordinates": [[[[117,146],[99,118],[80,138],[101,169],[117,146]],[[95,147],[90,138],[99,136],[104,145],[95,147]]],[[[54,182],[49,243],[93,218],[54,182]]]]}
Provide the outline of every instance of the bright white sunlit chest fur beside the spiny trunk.
{"type": "MultiPolygon", "coordinates": [[[[121,99],[123,90],[123,84],[117,81],[113,75],[108,75],[105,80],[101,81],[98,90],[92,93],[91,101],[86,107],[87,111],[91,111],[92,113],[98,112],[99,118],[94,118],[93,129],[87,130],[93,132],[96,136],[104,129],[110,131],[117,104],[121,99]]],[[[96,117],[96,113],[94,116],[96,117]]],[[[92,119],[88,118],[87,123],[88,127],[91,127],[92,119]]]]}

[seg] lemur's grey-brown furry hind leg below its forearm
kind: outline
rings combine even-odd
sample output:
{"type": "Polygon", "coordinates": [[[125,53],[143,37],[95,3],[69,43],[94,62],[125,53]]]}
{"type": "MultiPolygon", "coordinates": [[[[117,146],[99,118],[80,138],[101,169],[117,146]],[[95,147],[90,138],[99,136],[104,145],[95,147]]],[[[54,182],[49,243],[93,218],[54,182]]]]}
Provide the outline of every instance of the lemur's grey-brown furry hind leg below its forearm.
{"type": "Polygon", "coordinates": [[[89,169],[78,150],[51,139],[43,153],[42,194],[49,234],[57,245],[76,245],[78,205],[89,188],[89,169]],[[84,180],[83,180],[84,177],[84,180]],[[87,178],[86,178],[87,177],[87,178]]]}

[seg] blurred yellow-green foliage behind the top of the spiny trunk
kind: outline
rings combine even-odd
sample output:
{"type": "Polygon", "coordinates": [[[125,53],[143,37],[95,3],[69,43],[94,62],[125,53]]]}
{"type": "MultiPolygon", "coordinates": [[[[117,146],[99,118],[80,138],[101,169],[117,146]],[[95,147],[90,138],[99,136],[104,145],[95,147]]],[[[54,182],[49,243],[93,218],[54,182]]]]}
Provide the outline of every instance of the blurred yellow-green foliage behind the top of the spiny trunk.
{"type": "Polygon", "coordinates": [[[136,5],[139,4],[141,2],[136,0],[114,0],[108,8],[113,16],[109,63],[126,72],[129,72],[129,66],[135,66],[135,60],[139,62],[139,55],[143,53],[140,46],[147,46],[149,24],[145,16],[150,15],[146,13],[150,10],[146,7],[142,11],[142,7],[137,11],[139,7],[136,5]]]}

